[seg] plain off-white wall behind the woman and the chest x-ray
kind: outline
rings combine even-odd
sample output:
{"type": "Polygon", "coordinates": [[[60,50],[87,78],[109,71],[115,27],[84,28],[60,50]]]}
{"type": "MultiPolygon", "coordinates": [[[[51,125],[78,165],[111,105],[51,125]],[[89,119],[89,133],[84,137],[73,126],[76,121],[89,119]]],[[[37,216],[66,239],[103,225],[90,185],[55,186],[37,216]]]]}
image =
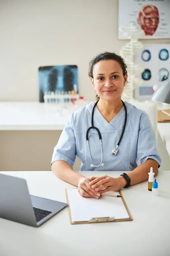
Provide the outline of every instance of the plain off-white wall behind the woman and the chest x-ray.
{"type": "Polygon", "coordinates": [[[38,67],[60,64],[77,64],[79,92],[94,100],[89,61],[126,42],[117,0],[0,0],[0,101],[38,101],[38,67]]]}

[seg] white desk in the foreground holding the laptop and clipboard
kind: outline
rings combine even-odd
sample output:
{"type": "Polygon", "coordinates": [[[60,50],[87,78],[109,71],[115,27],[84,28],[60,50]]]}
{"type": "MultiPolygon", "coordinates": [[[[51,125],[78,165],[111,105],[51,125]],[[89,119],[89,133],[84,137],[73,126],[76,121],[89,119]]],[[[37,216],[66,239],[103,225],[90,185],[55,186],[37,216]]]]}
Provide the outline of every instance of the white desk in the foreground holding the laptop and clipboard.
{"type": "MultiPolygon", "coordinates": [[[[90,177],[92,172],[81,172],[90,177]]],[[[73,187],[52,172],[5,172],[26,178],[30,194],[66,202],[73,187]]],[[[120,172],[93,172],[117,177],[120,172]]],[[[170,171],[157,176],[159,195],[147,182],[122,189],[133,221],[71,225],[65,208],[39,228],[0,219],[1,256],[170,256],[170,171]]]]}

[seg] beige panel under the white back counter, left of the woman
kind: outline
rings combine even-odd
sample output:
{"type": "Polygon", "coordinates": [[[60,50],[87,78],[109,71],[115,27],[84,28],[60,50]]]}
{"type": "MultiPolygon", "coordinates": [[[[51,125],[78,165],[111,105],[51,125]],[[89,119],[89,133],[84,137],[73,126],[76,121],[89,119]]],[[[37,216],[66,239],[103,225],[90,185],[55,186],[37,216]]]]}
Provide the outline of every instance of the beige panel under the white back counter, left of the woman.
{"type": "MultiPolygon", "coordinates": [[[[61,131],[0,131],[0,171],[50,171],[61,131]]],[[[79,170],[76,160],[74,170],[79,170]]]]}

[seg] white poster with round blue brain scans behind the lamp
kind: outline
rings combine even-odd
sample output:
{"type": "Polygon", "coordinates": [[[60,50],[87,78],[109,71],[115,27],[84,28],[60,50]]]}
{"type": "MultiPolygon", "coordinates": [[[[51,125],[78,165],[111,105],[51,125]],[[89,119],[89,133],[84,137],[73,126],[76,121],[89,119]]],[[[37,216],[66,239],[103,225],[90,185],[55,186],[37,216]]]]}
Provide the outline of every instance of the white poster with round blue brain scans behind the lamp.
{"type": "Polygon", "coordinates": [[[144,44],[134,61],[144,68],[141,73],[143,86],[136,88],[135,99],[150,100],[153,86],[159,86],[170,76],[170,44],[144,44]]]}

